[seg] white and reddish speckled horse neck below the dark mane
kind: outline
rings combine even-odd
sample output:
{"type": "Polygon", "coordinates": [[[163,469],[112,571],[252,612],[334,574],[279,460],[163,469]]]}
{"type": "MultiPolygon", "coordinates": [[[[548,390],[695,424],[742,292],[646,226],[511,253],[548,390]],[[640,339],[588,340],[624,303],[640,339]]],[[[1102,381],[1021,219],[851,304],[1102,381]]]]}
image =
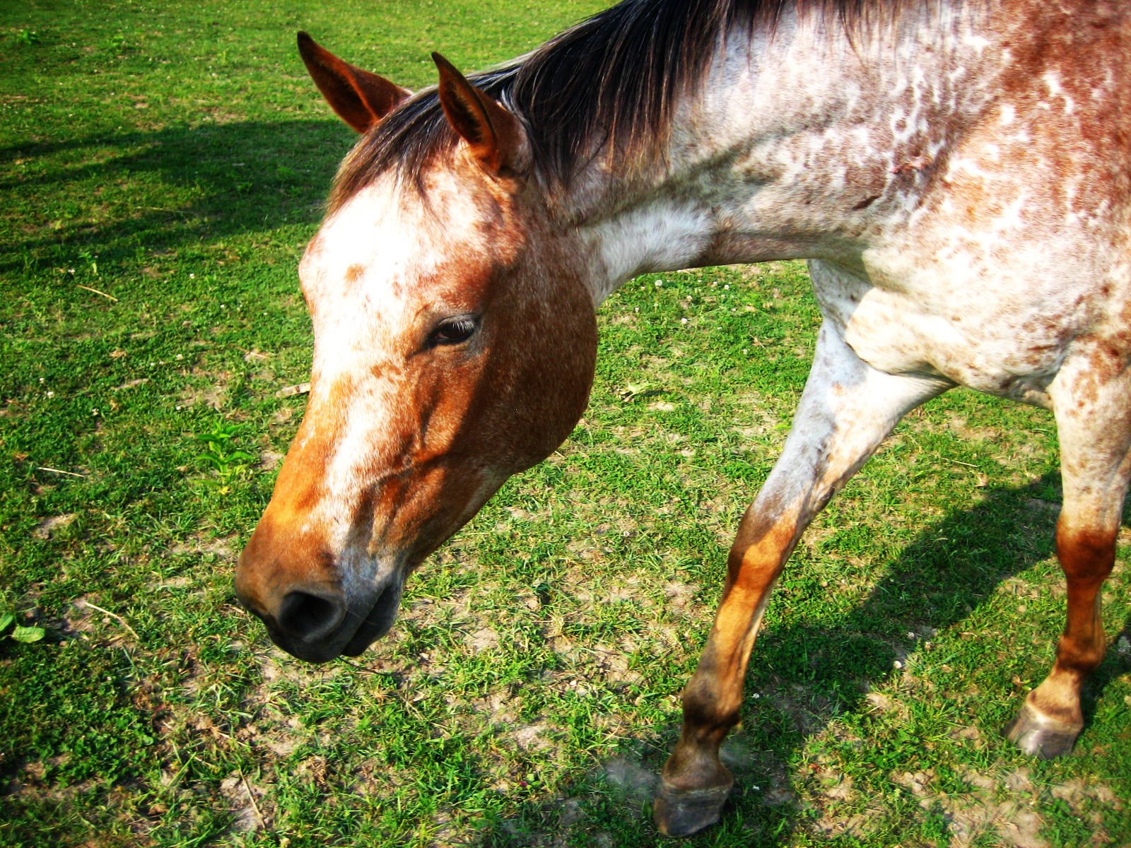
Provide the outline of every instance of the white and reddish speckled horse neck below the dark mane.
{"type": "Polygon", "coordinates": [[[925,181],[906,172],[993,96],[973,16],[938,14],[852,36],[835,19],[786,16],[774,34],[731,38],[654,159],[581,174],[566,208],[592,257],[595,301],[644,272],[856,265],[915,207],[925,181]]]}

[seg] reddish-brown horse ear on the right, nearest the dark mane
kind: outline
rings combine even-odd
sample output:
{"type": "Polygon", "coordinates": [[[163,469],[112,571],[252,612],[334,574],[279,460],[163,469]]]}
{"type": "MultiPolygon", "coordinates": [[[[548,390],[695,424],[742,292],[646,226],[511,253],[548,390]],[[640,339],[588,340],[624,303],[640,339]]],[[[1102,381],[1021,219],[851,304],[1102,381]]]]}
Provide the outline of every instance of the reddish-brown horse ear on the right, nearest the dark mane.
{"type": "Polygon", "coordinates": [[[520,176],[530,164],[526,130],[515,114],[476,88],[439,53],[440,105],[448,123],[467,142],[472,155],[492,176],[520,176]]]}

